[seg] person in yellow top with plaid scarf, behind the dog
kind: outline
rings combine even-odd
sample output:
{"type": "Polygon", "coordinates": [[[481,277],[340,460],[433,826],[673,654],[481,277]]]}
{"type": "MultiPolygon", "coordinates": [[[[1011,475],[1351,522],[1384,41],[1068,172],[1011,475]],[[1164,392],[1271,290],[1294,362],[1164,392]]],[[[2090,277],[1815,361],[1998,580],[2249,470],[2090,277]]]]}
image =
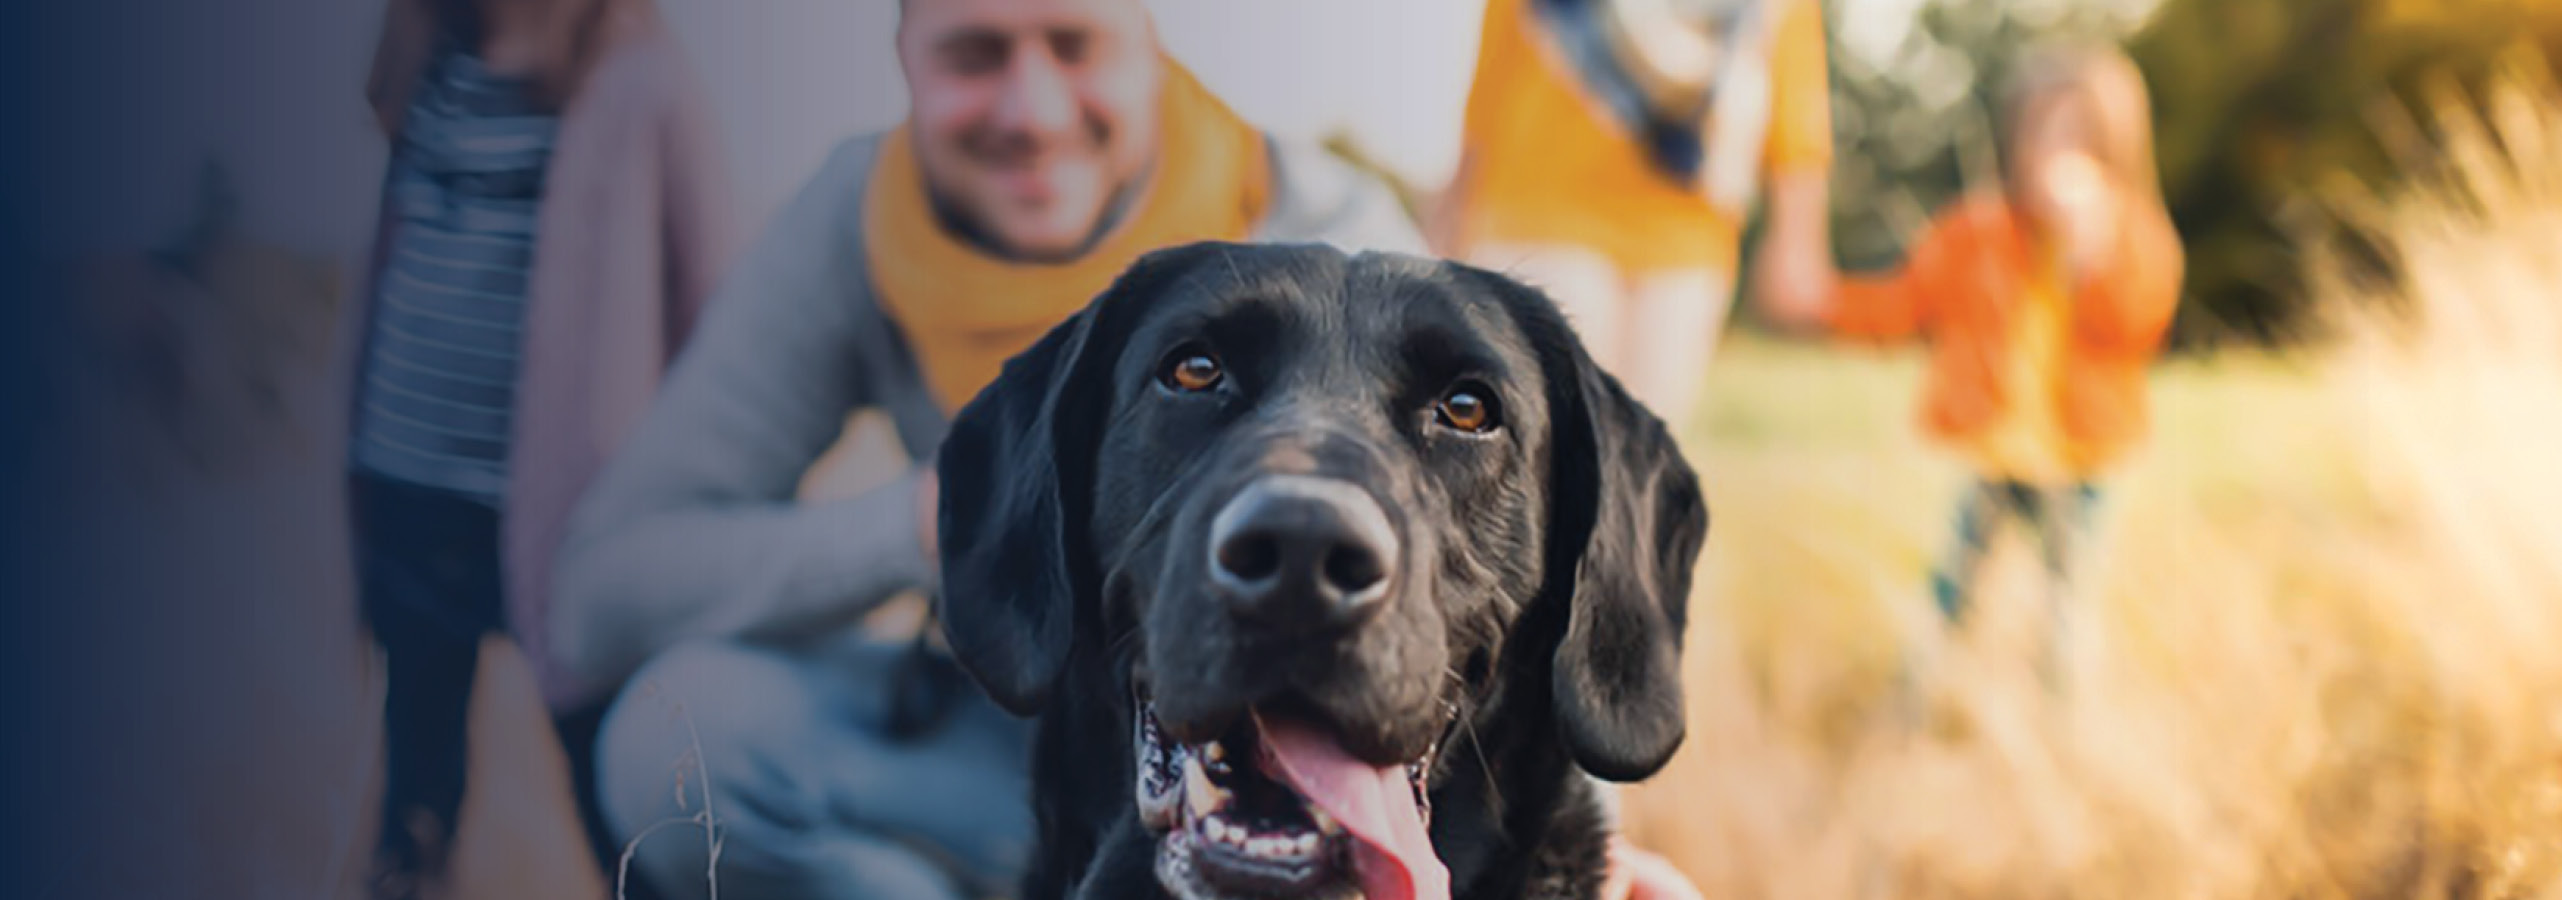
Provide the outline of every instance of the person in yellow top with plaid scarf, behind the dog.
{"type": "Polygon", "coordinates": [[[1755,292],[1832,292],[1832,100],[1814,0],[1489,0],[1437,249],[1547,290],[1676,426],[1768,203],[1755,292]],[[1763,197],[1765,195],[1765,197],[1763,197]]]}

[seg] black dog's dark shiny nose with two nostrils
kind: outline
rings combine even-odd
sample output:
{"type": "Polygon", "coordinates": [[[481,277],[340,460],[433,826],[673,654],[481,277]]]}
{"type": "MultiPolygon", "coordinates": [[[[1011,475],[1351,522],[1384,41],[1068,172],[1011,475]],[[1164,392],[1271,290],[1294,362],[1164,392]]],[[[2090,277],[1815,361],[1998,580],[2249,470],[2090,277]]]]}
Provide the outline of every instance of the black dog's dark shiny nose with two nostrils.
{"type": "Polygon", "coordinates": [[[1209,572],[1240,621],[1276,631],[1350,628],[1386,605],[1396,528],[1350,482],[1273,474],[1209,523],[1209,572]]]}

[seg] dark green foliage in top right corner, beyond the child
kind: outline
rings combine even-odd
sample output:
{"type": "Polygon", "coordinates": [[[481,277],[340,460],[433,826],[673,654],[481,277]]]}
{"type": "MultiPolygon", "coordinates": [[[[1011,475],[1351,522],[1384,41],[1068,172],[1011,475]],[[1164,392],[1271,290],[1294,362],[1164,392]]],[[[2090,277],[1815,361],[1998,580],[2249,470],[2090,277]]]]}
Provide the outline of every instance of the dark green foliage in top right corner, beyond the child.
{"type": "Polygon", "coordinates": [[[2301,333],[2296,246],[2329,226],[2337,192],[2444,164],[2408,128],[2421,87],[2477,85],[2508,51],[2552,46],[2552,23],[2549,5],[2503,0],[2167,0],[2129,49],[2191,251],[2183,336],[2301,333]]]}

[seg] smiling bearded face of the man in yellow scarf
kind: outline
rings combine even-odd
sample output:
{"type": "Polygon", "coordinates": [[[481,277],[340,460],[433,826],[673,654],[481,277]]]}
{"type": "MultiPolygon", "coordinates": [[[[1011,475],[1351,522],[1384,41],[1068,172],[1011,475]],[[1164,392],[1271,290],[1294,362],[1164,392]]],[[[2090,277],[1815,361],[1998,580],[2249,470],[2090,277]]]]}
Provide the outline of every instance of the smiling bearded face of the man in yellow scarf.
{"type": "Polygon", "coordinates": [[[899,64],[927,187],[1004,254],[1081,251],[1155,151],[1138,0],[907,0],[899,64]]]}

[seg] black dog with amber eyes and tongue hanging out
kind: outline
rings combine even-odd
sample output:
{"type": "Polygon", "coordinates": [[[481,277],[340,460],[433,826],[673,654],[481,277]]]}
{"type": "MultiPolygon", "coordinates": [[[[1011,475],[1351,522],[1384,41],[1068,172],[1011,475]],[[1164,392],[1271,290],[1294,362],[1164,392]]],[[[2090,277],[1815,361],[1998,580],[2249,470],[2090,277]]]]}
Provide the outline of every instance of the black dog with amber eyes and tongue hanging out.
{"type": "Polygon", "coordinates": [[[1699,482],[1499,274],[1153,254],[938,464],[951,644],[1040,713],[1025,900],[1591,897],[1583,772],[1681,744],[1699,482]]]}

